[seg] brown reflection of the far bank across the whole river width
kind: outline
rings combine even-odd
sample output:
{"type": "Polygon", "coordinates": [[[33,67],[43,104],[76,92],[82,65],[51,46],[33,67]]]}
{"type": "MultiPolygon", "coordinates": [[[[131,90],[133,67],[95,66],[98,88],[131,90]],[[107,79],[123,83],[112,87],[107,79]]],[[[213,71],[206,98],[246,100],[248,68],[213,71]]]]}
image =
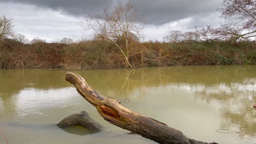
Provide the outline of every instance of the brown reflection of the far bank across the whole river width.
{"type": "MultiPolygon", "coordinates": [[[[245,79],[255,77],[254,66],[177,66],[159,68],[140,68],[115,70],[74,71],[96,89],[113,91],[129,88],[132,92],[139,87],[168,85],[168,83],[242,83],[245,79]],[[125,84],[124,84],[125,83],[125,84]],[[131,83],[131,84],[128,84],[131,83]]],[[[0,70],[0,93],[17,93],[24,88],[61,88],[71,86],[65,81],[65,70],[32,69],[32,70],[0,70]]],[[[249,79],[248,79],[249,80],[249,79]]]]}

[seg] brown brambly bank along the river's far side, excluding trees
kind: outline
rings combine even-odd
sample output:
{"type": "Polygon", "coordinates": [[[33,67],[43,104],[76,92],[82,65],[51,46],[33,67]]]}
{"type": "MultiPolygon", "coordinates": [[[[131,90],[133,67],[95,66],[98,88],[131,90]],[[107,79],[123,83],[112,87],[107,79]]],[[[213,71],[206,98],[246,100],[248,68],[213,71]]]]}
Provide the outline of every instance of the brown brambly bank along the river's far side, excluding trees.
{"type": "MultiPolygon", "coordinates": [[[[149,41],[133,45],[129,60],[135,67],[256,64],[256,44],[250,41],[183,41],[176,44],[149,41]]],[[[127,67],[120,51],[103,40],[22,44],[5,39],[0,44],[0,69],[127,67]]]]}

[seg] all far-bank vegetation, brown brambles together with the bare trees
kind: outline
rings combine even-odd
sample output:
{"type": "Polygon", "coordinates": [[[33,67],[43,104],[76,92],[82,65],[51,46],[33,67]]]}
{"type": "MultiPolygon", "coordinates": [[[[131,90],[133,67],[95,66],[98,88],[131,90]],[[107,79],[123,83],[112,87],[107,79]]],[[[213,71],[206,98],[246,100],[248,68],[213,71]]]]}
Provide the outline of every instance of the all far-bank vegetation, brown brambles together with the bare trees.
{"type": "Polygon", "coordinates": [[[14,34],[12,19],[0,16],[0,69],[256,64],[255,1],[223,0],[222,4],[219,11],[225,22],[220,27],[171,31],[164,37],[168,42],[139,42],[141,19],[130,3],[89,15],[81,24],[94,31],[94,39],[78,43],[34,38],[25,44],[24,35],[14,34]]]}

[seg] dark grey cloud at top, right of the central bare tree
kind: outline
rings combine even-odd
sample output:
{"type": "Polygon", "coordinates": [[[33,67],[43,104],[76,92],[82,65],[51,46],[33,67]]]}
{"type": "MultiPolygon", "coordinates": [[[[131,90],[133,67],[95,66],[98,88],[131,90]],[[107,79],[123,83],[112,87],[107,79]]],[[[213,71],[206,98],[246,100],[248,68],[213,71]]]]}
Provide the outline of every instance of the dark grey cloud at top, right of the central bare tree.
{"type": "Polygon", "coordinates": [[[148,24],[161,25],[188,17],[215,13],[220,0],[139,0],[132,1],[148,24]]]}

